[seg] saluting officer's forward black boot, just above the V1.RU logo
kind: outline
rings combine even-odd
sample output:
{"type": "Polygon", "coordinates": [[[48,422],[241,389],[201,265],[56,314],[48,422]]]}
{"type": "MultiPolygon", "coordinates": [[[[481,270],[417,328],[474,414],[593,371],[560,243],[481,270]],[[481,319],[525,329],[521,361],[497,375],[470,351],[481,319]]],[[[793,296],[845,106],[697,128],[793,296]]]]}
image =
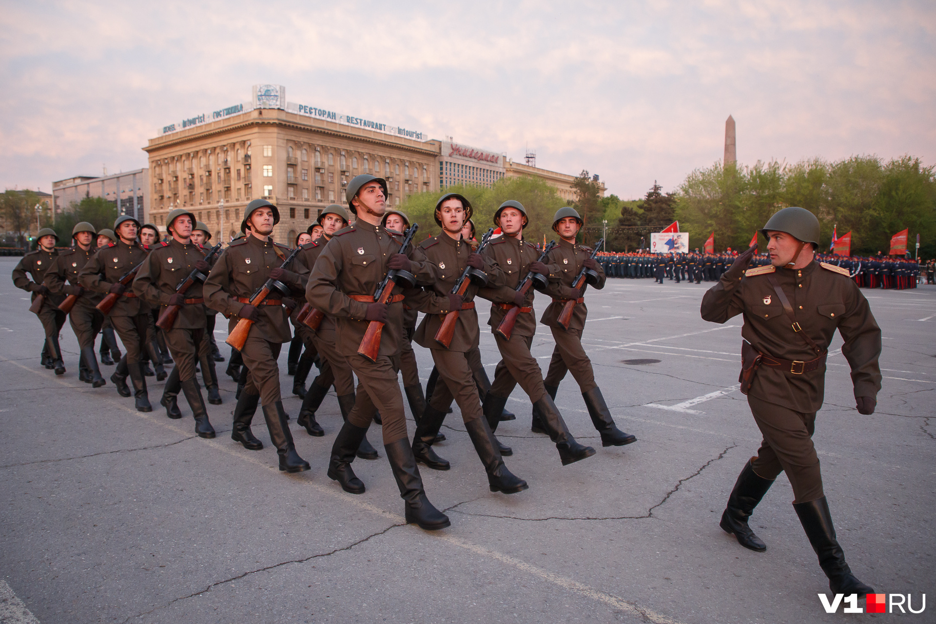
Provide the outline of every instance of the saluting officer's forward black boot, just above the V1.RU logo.
{"type": "Polygon", "coordinates": [[[799,523],[803,525],[806,536],[810,538],[812,550],[819,558],[819,565],[828,576],[828,588],[833,594],[858,594],[858,597],[874,593],[874,589],[855,578],[848,564],[845,553],[835,539],[835,527],[832,515],[828,511],[828,501],[822,497],[817,501],[795,502],[799,523]]]}

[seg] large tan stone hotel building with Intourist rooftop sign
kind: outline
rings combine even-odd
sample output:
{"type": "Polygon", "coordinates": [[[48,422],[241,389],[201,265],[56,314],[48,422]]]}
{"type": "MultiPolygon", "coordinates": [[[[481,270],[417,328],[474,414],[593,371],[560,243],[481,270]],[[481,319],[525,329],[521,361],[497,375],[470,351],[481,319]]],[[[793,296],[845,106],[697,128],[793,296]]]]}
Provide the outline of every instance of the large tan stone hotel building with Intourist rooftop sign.
{"type": "Polygon", "coordinates": [[[344,204],[360,173],[388,181],[391,206],[439,186],[439,141],[421,133],[303,104],[285,88],[254,87],[253,101],[163,127],[149,154],[150,221],[165,229],[169,210],[193,210],[213,240],[241,231],[243,210],[264,197],[280,210],[273,237],[292,245],[330,203],[344,204]],[[223,233],[223,236],[222,236],[223,233]]]}

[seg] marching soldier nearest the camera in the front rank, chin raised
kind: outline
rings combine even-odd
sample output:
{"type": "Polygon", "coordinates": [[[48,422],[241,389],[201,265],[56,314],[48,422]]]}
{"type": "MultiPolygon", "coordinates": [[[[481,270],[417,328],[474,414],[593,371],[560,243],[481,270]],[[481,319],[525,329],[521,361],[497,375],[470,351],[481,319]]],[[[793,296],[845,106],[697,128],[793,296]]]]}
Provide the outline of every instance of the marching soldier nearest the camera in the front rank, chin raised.
{"type": "MultiPolygon", "coordinates": [[[[413,246],[402,250],[401,237],[380,226],[387,210],[387,181],[367,174],[356,176],[348,184],[345,196],[358,219],[329,240],[315,262],[306,289],[310,304],[335,316],[337,349],[358,375],[358,400],[331,448],[329,478],[338,481],[346,492],[364,492],[364,484],[351,470],[351,462],[371,424],[375,407],[383,419],[384,448],[390,468],[406,501],[406,522],[415,522],[425,530],[444,529],[450,524],[448,516],[426,497],[406,434],[398,380],[403,297],[398,293],[386,304],[373,301],[377,285],[388,269],[406,270],[416,283],[423,284],[432,283],[435,273],[421,251],[413,246]],[[371,321],[384,324],[375,361],[358,354],[371,321]]],[[[394,290],[399,290],[399,286],[394,290]]]]}

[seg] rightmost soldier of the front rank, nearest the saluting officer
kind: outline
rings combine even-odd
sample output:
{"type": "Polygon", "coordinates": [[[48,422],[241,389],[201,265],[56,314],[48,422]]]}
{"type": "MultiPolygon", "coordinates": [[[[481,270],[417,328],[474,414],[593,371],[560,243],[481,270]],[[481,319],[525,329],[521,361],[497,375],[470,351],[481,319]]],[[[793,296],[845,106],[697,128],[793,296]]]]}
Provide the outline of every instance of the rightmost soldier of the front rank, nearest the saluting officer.
{"type": "MultiPolygon", "coordinates": [[[[592,360],[585,353],[581,343],[581,334],[585,329],[585,319],[588,316],[588,308],[585,307],[585,299],[582,297],[587,283],[582,283],[578,288],[573,288],[573,283],[584,267],[594,271],[597,275],[596,283],[594,283],[596,289],[601,290],[605,287],[605,272],[597,262],[592,260],[592,250],[576,244],[576,236],[581,226],[582,220],[578,216],[578,211],[569,207],[557,210],[552,221],[552,229],[559,234],[560,241],[559,246],[549,252],[547,261],[549,285],[545,293],[552,297],[552,303],[543,312],[540,323],[549,327],[556,346],[552,351],[543,386],[549,396],[555,399],[566,371],[571,371],[572,376],[578,382],[582,399],[585,399],[585,406],[592,417],[592,424],[601,434],[601,445],[623,446],[636,442],[636,437],[624,433],[614,423],[614,418],[607,409],[607,403],[601,394],[601,388],[594,381],[592,360]],[[576,301],[576,305],[569,327],[565,328],[559,322],[559,315],[563,312],[567,301],[576,301]]],[[[546,433],[540,414],[535,408],[532,428],[538,433],[546,433]]]]}

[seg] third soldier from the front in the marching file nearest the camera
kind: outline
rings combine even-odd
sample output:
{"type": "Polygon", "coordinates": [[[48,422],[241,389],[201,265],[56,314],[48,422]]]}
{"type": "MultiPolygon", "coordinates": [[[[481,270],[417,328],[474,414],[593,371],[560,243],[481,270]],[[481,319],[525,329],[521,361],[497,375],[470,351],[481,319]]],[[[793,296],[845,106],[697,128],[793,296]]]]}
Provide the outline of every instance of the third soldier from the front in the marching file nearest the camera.
{"type": "MultiPolygon", "coordinates": [[[[205,254],[199,245],[192,242],[192,227],[196,225],[195,214],[183,208],[169,212],[166,229],[171,239],[156,243],[147,256],[133,281],[133,292],[165,312],[168,306],[181,306],[179,315],[171,329],[166,330],[166,343],[172,353],[175,367],[169,374],[160,404],[166,408],[169,418],[181,418],[176,403],[180,388],[195,417],[195,432],[201,438],[213,438],[214,428],[208,419],[208,409],[201,398],[201,388],[195,379],[196,362],[209,359],[212,345],[205,335],[205,299],[201,294],[201,283],[193,283],[185,293],[176,292],[176,287],[193,269],[203,275],[209,270],[205,254]]],[[[212,362],[213,364],[213,362],[212,362]]],[[[204,366],[204,365],[202,365],[204,366]]],[[[206,384],[211,374],[202,370],[206,384]]]]}

